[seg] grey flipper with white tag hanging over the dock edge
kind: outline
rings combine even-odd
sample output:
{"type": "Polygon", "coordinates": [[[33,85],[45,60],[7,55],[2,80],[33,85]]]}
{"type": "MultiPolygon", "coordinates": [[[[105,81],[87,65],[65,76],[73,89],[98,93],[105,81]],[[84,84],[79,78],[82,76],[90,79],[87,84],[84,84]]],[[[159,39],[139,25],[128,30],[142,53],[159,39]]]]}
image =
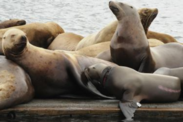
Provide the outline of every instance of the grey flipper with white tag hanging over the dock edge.
{"type": "Polygon", "coordinates": [[[141,107],[141,104],[138,102],[119,102],[119,107],[126,117],[126,120],[133,120],[132,117],[134,117],[134,113],[138,107],[141,107]]]}

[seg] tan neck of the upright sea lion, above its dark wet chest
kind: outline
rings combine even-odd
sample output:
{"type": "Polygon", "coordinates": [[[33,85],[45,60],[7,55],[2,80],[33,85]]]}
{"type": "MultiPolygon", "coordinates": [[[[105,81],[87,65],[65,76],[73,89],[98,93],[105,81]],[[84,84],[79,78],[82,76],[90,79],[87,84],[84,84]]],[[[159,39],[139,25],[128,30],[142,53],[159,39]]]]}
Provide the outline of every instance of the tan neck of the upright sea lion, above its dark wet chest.
{"type": "Polygon", "coordinates": [[[118,44],[135,44],[140,47],[149,46],[140,18],[129,16],[118,21],[116,36],[117,39],[112,39],[112,41],[116,41],[118,44]]]}

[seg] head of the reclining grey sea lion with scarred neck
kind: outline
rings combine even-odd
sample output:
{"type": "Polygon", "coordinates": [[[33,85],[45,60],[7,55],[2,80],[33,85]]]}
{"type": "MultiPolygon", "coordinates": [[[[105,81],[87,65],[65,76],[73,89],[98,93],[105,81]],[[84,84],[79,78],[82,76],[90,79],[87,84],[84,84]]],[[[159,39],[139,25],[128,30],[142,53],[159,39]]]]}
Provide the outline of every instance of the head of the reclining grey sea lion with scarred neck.
{"type": "Polygon", "coordinates": [[[107,67],[105,64],[94,64],[84,70],[88,80],[92,82],[100,82],[103,70],[107,67]]]}

